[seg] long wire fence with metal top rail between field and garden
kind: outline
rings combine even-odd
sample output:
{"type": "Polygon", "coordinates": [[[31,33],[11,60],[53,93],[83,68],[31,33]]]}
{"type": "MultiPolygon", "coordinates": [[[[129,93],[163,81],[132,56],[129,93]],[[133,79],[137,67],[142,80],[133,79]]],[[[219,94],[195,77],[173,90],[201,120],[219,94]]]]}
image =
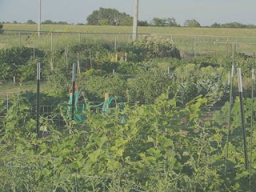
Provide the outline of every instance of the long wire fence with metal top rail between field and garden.
{"type": "MultiPolygon", "coordinates": [[[[237,51],[251,54],[256,51],[256,37],[235,37],[216,35],[184,35],[184,34],[138,34],[138,39],[145,37],[162,37],[172,42],[180,50],[182,58],[198,56],[231,55],[234,45],[237,51]]],[[[118,46],[130,44],[130,33],[80,33],[42,31],[38,37],[37,31],[5,30],[0,35],[0,48],[10,46],[27,46],[52,51],[64,49],[80,42],[105,41],[113,50],[118,46]]]]}

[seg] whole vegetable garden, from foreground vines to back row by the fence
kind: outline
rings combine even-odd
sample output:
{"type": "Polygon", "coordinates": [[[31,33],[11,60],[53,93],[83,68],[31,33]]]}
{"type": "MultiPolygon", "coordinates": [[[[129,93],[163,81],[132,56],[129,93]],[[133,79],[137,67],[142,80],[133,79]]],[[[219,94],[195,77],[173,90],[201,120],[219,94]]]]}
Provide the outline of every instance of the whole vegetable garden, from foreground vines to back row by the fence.
{"type": "Polygon", "coordinates": [[[2,84],[35,85],[37,63],[49,89],[1,100],[1,191],[255,191],[254,56],[182,58],[162,37],[79,42],[54,57],[18,46],[0,50],[2,84]],[[80,122],[67,110],[74,76],[80,122]]]}

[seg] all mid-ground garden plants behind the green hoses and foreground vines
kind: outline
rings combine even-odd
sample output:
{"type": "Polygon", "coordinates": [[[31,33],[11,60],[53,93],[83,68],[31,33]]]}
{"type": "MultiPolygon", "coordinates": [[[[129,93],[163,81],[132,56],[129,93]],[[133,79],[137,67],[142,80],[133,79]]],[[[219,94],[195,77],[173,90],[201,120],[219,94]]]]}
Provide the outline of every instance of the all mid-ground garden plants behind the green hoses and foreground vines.
{"type": "MultiPolygon", "coordinates": [[[[146,38],[144,43],[118,47],[115,51],[106,42],[86,42],[56,50],[54,58],[51,53],[25,47],[2,50],[0,76],[2,81],[13,76],[21,82],[34,80],[36,62],[41,62],[42,81],[49,83],[52,93],[63,96],[70,87],[71,64],[79,61],[78,86],[88,91],[90,101],[98,101],[104,92],[109,92],[124,101],[150,103],[168,87],[171,95],[178,94],[183,102],[199,94],[210,95],[222,103],[226,101],[232,58],[180,59],[176,55],[178,50],[169,41],[162,46],[156,46],[159,42],[150,41],[146,38]],[[151,55],[151,50],[154,55],[151,55]],[[158,51],[167,51],[171,55],[167,57],[158,51]],[[118,54],[118,62],[112,61],[115,53],[118,54]],[[122,58],[126,55],[128,60],[122,58]]],[[[245,95],[248,95],[252,59],[238,54],[236,61],[242,67],[245,95]]],[[[238,90],[236,82],[234,85],[234,90],[238,90]]]]}

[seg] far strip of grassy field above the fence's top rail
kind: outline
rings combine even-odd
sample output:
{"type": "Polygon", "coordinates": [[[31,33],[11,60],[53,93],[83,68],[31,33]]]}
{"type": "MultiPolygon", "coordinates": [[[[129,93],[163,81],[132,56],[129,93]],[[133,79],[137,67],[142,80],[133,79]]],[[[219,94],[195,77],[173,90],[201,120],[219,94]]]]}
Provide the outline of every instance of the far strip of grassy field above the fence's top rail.
{"type": "MultiPolygon", "coordinates": [[[[5,24],[4,30],[38,30],[38,25],[5,24]]],[[[42,25],[42,31],[81,32],[81,33],[132,33],[132,26],[73,26],[73,25],[42,25]]],[[[178,35],[213,35],[256,37],[255,29],[217,29],[189,27],[156,27],[139,26],[139,34],[178,34],[178,35]]]]}

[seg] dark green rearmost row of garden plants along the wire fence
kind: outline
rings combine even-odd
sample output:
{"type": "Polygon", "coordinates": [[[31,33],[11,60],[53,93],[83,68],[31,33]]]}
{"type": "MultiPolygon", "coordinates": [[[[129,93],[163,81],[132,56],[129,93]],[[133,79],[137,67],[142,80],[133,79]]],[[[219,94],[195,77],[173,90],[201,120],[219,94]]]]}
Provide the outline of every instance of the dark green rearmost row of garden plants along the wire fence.
{"type": "MultiPolygon", "coordinates": [[[[50,73],[55,68],[55,62],[56,65],[58,62],[64,62],[65,68],[69,69],[73,62],[79,61],[81,70],[86,70],[93,67],[102,68],[106,64],[127,59],[130,62],[138,62],[147,58],[180,58],[179,51],[172,42],[166,42],[166,46],[157,50],[154,47],[145,46],[145,43],[146,40],[144,43],[122,45],[113,49],[107,42],[84,42],[52,51],[13,47],[0,51],[0,79],[8,80],[16,77],[20,81],[31,80],[34,62],[45,64],[47,73],[50,73]]],[[[158,42],[150,43],[157,45],[158,42]]]]}

